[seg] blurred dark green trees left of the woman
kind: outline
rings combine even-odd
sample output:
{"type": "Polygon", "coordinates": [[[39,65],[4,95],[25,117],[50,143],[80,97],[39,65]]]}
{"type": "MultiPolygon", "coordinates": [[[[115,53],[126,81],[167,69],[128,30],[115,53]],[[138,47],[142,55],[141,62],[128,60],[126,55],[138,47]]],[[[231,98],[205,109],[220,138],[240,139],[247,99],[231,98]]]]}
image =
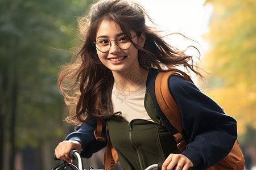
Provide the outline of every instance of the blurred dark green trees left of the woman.
{"type": "Polygon", "coordinates": [[[57,67],[71,58],[76,16],[92,2],[0,1],[0,169],[4,148],[14,169],[18,148],[63,137],[57,67]]]}

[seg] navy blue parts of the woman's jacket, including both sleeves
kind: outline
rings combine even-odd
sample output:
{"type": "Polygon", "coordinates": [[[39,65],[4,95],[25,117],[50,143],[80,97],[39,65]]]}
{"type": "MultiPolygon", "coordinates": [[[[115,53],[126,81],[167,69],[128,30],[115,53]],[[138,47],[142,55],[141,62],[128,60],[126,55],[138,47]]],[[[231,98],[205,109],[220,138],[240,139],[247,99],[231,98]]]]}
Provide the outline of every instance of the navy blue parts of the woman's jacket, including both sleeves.
{"type": "MultiPolygon", "coordinates": [[[[157,74],[156,70],[148,73],[147,90],[154,89],[157,74]]],[[[171,76],[169,89],[180,108],[183,136],[187,141],[187,148],[181,154],[187,156],[196,169],[206,169],[220,162],[232,150],[237,139],[236,120],[226,115],[222,108],[200,92],[195,84],[183,78],[171,76]]],[[[151,97],[153,101],[156,100],[154,96],[151,97]]],[[[158,107],[156,105],[159,112],[158,107]]],[[[106,146],[107,139],[104,142],[96,141],[93,134],[95,128],[96,119],[93,118],[92,122],[82,124],[66,138],[81,143],[81,155],[85,158],[106,146]]],[[[173,131],[173,126],[170,124],[167,129],[173,131]]],[[[105,130],[102,130],[102,137],[106,138],[104,132],[105,130]]]]}

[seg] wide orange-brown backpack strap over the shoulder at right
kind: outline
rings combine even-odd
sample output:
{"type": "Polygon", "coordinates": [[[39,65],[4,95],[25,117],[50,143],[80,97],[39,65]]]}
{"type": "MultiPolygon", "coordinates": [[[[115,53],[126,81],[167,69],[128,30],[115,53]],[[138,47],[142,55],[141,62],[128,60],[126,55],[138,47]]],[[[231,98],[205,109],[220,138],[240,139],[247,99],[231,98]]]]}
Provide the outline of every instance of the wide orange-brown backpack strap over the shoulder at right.
{"type": "Polygon", "coordinates": [[[177,148],[182,152],[187,146],[187,143],[181,134],[183,132],[182,118],[179,106],[172,97],[168,84],[169,78],[172,75],[182,76],[184,79],[189,80],[189,82],[192,82],[192,80],[182,71],[178,72],[179,73],[177,73],[177,71],[160,72],[155,79],[155,95],[162,112],[165,114],[174,128],[179,131],[178,133],[174,134],[174,138],[177,143],[177,148]]]}

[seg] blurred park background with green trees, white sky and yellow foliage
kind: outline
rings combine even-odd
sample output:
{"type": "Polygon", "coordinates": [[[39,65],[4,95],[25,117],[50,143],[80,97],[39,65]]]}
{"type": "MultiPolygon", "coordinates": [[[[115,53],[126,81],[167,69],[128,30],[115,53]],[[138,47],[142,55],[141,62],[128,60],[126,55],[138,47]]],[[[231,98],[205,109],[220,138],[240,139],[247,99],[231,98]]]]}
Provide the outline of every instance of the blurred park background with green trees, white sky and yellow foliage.
{"type": "MultiPolygon", "coordinates": [[[[57,73],[79,47],[77,16],[94,2],[0,1],[0,169],[47,170],[56,164],[54,148],[73,130],[64,121],[68,113],[57,89],[57,73]]],[[[254,169],[255,1],[138,2],[156,24],[199,42],[202,67],[210,75],[197,86],[236,118],[246,169],[254,169]]],[[[86,163],[100,168],[101,157],[102,151],[86,163]]]]}

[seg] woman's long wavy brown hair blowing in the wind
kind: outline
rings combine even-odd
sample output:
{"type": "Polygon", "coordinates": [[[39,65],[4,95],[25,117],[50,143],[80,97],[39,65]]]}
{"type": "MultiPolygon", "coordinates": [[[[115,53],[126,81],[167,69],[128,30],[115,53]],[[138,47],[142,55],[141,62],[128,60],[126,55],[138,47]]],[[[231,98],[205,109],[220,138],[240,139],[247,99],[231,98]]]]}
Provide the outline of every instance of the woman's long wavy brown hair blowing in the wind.
{"type": "MultiPolygon", "coordinates": [[[[125,36],[139,50],[138,59],[144,69],[156,68],[159,71],[184,66],[185,69],[202,76],[193,66],[192,56],[167,44],[156,29],[148,27],[145,19],[150,17],[136,2],[125,0],[102,0],[91,6],[90,12],[79,20],[81,37],[84,40],[80,51],[68,65],[61,68],[57,83],[69,106],[69,121],[77,124],[88,121],[90,117],[113,116],[112,71],[105,67],[97,56],[94,41],[98,25],[102,20],[113,20],[125,36]],[[130,31],[138,36],[144,32],[146,42],[140,48],[131,40],[130,31]]],[[[151,19],[150,19],[151,20],[151,19]]],[[[152,20],[151,20],[152,21],[152,20]]]]}

